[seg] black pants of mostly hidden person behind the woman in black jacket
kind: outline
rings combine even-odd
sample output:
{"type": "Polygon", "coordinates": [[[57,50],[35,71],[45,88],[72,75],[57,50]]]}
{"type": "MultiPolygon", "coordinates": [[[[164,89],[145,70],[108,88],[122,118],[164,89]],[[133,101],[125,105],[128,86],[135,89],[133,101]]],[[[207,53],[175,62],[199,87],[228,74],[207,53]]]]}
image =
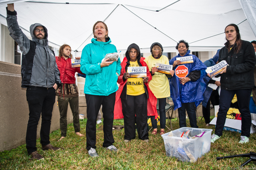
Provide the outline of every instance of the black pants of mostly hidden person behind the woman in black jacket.
{"type": "Polygon", "coordinates": [[[213,105],[219,105],[220,102],[220,96],[218,90],[213,90],[211,93],[211,96],[207,102],[206,108],[203,106],[202,111],[203,111],[203,116],[204,116],[204,121],[205,123],[210,123],[210,103],[213,105]]]}

